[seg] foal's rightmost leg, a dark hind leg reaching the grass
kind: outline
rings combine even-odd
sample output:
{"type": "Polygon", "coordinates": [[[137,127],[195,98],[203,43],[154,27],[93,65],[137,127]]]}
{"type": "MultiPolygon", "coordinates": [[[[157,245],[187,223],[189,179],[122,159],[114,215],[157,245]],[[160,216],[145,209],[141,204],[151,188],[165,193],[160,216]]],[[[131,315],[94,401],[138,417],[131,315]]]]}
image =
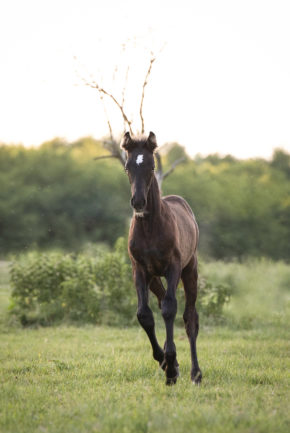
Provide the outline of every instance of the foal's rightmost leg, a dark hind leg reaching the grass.
{"type": "Polygon", "coordinates": [[[202,373],[198,365],[196,353],[196,339],[199,323],[198,314],[195,308],[197,297],[197,264],[192,260],[182,271],[181,279],[185,291],[185,310],[183,314],[184,325],[188,336],[191,352],[191,380],[198,384],[201,382],[202,373]]]}

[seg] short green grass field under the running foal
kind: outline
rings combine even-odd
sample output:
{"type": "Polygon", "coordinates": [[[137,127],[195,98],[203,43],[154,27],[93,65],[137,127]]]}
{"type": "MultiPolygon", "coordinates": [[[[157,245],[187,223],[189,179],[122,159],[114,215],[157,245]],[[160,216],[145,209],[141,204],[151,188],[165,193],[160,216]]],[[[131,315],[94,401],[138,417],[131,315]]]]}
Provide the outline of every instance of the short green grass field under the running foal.
{"type": "MultiPolygon", "coordinates": [[[[1,266],[1,433],[290,430],[289,316],[284,287],[289,267],[286,272],[277,265],[277,275],[273,277],[272,269],[270,277],[265,264],[260,270],[244,268],[244,272],[230,268],[236,264],[222,269],[211,265],[210,273],[219,269],[226,279],[242,281],[228,307],[229,321],[219,327],[201,326],[198,353],[204,380],[200,387],[190,382],[188,342],[184,330],[176,329],[181,377],[176,386],[166,387],[142,329],[7,327],[10,289],[7,266],[1,266]],[[256,278],[252,304],[249,291],[243,294],[242,289],[247,272],[248,279],[256,278]],[[272,291],[280,294],[282,302],[268,311],[272,295],[266,292],[263,300],[258,285],[264,282],[267,287],[278,280],[281,287],[272,291]],[[238,310],[246,311],[237,322],[240,326],[232,327],[231,318],[238,310]]],[[[158,335],[163,342],[160,326],[158,335]]]]}

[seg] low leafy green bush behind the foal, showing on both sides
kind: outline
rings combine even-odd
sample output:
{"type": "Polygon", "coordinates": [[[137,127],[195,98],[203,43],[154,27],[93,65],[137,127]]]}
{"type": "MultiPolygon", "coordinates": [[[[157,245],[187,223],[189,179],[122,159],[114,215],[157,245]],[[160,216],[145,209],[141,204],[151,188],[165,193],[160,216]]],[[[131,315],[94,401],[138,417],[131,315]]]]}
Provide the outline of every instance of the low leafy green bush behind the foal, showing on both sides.
{"type": "MultiPolygon", "coordinates": [[[[11,268],[11,314],[23,325],[136,323],[136,291],[126,250],[120,238],[113,251],[104,250],[96,258],[61,253],[20,257],[11,268]]],[[[220,317],[229,295],[227,287],[200,278],[199,312],[220,317]]]]}

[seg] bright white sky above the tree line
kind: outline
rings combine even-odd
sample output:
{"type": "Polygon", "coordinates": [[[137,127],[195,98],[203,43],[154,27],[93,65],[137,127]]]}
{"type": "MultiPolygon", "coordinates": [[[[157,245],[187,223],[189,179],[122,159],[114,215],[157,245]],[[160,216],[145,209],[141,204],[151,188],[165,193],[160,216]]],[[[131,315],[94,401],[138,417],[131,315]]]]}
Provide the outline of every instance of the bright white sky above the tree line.
{"type": "Polygon", "coordinates": [[[140,128],[149,52],[164,43],[144,103],[159,144],[242,158],[290,151],[289,0],[1,0],[0,141],[107,134],[97,92],[75,71],[120,97],[127,65],[127,111],[140,128]]]}

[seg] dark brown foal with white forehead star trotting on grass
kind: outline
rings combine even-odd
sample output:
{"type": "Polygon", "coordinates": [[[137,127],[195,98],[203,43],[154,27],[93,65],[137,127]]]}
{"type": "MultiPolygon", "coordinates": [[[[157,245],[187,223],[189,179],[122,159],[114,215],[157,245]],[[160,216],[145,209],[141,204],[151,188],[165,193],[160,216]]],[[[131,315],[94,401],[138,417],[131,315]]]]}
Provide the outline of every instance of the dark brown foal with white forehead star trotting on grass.
{"type": "Polygon", "coordinates": [[[183,319],[191,350],[191,380],[200,383],[202,374],[197,361],[196,338],[198,227],[186,201],[176,195],[161,198],[154,175],[156,137],[132,138],[127,132],[121,143],[127,152],[126,171],[131,184],[131,205],[134,209],[129,232],[129,255],[138,296],[137,317],[146,331],[153,357],[166,373],[166,384],[176,383],[179,368],[173,341],[177,311],[176,289],[180,278],[185,290],[183,319]],[[165,290],[160,277],[167,281],[165,290]],[[148,290],[158,298],[166,326],[164,350],[159,346],[154,318],[148,305],[148,290]]]}

